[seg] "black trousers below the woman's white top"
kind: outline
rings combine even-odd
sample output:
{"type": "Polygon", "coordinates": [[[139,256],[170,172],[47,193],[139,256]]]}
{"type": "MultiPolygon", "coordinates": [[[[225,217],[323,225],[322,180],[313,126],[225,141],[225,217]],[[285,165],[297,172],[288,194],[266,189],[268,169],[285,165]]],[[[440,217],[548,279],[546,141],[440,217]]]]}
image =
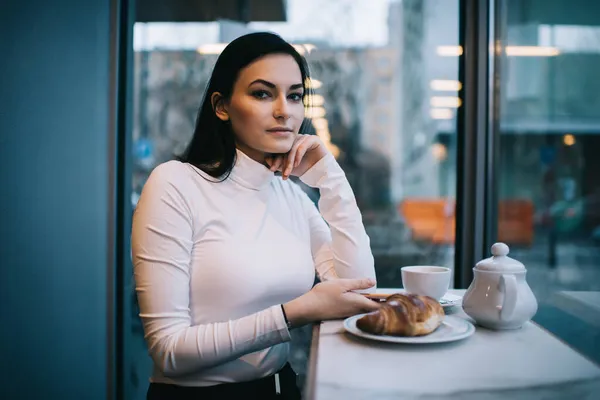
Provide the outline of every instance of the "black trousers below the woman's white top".
{"type": "Polygon", "coordinates": [[[296,373],[286,364],[278,373],[250,382],[198,387],[150,383],[147,400],[300,400],[296,373]],[[277,384],[277,380],[279,384],[277,384]],[[279,393],[278,393],[279,391],[279,393]]]}

